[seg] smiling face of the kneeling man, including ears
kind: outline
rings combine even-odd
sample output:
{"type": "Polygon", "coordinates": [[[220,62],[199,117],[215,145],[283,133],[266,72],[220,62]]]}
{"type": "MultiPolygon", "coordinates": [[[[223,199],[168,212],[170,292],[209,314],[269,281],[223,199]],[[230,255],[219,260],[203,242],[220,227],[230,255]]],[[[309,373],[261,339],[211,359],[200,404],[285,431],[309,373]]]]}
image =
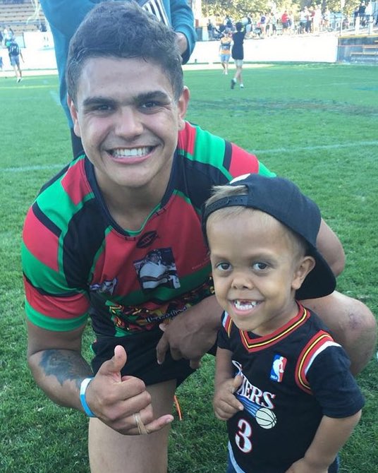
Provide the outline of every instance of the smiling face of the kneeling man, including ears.
{"type": "Polygon", "coordinates": [[[68,105],[104,193],[165,188],[188,90],[178,102],[173,97],[157,64],[114,57],[85,61],[75,104],[68,97],[68,105]]]}

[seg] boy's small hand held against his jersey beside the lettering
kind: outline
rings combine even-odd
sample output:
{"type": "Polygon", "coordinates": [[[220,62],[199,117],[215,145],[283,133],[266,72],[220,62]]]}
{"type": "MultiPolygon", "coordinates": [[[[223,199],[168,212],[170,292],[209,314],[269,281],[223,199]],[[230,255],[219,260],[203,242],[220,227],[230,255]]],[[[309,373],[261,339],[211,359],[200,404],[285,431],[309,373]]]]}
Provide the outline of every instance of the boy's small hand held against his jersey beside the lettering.
{"type": "Polygon", "coordinates": [[[242,382],[243,378],[236,376],[224,381],[215,390],[213,400],[214,412],[221,421],[230,419],[233,417],[233,414],[244,409],[243,404],[233,395],[242,382]]]}

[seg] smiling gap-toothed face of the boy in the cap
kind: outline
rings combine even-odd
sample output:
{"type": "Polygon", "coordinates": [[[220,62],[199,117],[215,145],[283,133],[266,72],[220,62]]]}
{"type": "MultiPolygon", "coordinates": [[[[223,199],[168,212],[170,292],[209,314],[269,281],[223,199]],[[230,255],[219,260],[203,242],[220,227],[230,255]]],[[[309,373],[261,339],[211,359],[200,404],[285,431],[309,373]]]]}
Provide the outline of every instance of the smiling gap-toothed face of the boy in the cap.
{"type": "Polygon", "coordinates": [[[214,212],[207,238],[217,300],[240,330],[268,335],[296,315],[295,290],[314,261],[284,225],[259,210],[214,212]]]}

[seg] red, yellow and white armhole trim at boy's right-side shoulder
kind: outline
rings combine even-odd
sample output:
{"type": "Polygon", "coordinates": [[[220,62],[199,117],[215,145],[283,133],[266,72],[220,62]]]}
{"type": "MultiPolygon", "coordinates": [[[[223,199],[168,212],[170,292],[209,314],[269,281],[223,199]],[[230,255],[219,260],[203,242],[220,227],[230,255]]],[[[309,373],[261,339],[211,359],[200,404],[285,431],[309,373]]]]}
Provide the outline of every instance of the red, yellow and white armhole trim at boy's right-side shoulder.
{"type": "Polygon", "coordinates": [[[329,333],[324,332],[324,330],[319,330],[300,353],[297,366],[295,366],[295,383],[297,383],[298,387],[304,390],[305,393],[312,394],[310,383],[307,380],[307,371],[310,369],[317,355],[329,346],[339,347],[340,345],[334,342],[334,339],[329,333]]]}

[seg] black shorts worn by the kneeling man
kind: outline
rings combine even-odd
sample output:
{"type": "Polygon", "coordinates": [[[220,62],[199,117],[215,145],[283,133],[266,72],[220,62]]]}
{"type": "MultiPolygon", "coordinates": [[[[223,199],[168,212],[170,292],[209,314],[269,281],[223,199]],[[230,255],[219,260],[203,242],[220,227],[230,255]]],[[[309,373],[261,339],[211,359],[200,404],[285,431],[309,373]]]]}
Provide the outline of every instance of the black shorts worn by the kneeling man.
{"type": "MultiPolygon", "coordinates": [[[[95,355],[92,359],[94,373],[97,373],[104,361],[114,356],[114,347],[122,345],[128,356],[121,371],[122,376],[136,376],[142,379],[146,385],[171,379],[176,379],[177,385],[181,384],[195,370],[190,368],[189,360],[174,361],[169,351],[166,352],[164,363],[157,364],[156,347],[161,335],[163,335],[163,332],[157,329],[128,337],[98,337],[92,344],[95,355]]],[[[214,354],[213,349],[209,353],[214,354]]]]}

